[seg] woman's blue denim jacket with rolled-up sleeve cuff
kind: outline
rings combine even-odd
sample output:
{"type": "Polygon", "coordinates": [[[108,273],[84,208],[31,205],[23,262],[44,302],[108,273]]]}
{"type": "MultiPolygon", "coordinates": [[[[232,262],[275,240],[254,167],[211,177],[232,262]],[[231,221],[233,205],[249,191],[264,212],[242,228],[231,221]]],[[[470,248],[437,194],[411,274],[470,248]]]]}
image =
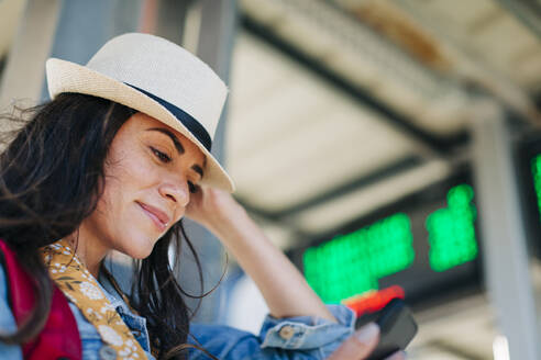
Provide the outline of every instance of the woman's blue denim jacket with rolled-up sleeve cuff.
{"type": "MultiPolygon", "coordinates": [[[[113,288],[110,284],[103,283],[102,288],[148,359],[154,359],[150,352],[145,318],[133,314],[120,296],[113,295],[113,288]]],[[[101,341],[98,331],[87,322],[79,308],[71,303],[69,306],[77,320],[82,341],[82,358],[117,359],[114,350],[101,341]]],[[[311,316],[281,319],[267,316],[258,335],[221,325],[191,324],[189,342],[197,344],[221,360],[324,359],[353,333],[355,320],[353,312],[345,306],[329,305],[328,307],[338,324],[311,316]]],[[[11,331],[14,328],[15,322],[8,303],[5,273],[0,266],[0,330],[11,331]]],[[[22,359],[19,346],[0,342],[0,353],[2,359],[22,359]]],[[[189,359],[208,359],[208,357],[199,350],[190,350],[189,359]]]]}

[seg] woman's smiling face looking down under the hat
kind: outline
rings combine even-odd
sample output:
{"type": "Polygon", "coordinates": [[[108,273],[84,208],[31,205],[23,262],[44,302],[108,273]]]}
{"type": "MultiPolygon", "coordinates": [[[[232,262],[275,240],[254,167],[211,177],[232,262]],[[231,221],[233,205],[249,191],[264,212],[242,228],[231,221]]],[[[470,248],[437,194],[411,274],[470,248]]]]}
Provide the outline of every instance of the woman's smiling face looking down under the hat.
{"type": "Polygon", "coordinates": [[[136,113],[114,136],[97,209],[79,228],[96,245],[132,258],[147,257],[178,222],[202,178],[205,155],[184,135],[136,113]]]}

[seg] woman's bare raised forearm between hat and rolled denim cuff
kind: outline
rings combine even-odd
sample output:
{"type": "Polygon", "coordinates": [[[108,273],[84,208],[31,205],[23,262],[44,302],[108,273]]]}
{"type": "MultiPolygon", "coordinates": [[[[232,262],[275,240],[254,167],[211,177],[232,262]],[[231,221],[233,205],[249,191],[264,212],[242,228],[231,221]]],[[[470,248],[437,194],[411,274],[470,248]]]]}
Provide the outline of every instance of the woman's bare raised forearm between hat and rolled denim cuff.
{"type": "Polygon", "coordinates": [[[318,316],[336,322],[302,274],[233,196],[199,187],[186,216],[211,230],[254,280],[274,317],[318,316]]]}

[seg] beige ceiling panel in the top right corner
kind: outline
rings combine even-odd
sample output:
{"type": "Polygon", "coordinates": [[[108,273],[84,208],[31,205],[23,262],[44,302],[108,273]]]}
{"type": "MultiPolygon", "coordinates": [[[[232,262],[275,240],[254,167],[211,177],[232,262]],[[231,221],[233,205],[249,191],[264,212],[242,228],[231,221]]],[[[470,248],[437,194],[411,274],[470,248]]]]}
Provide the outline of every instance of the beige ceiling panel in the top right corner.
{"type": "MultiPolygon", "coordinates": [[[[412,1],[394,1],[397,5],[412,1]]],[[[411,8],[410,8],[411,9],[411,8]]],[[[541,78],[541,44],[514,14],[494,0],[423,1],[415,13],[460,42],[472,57],[528,90],[541,78]]]]}

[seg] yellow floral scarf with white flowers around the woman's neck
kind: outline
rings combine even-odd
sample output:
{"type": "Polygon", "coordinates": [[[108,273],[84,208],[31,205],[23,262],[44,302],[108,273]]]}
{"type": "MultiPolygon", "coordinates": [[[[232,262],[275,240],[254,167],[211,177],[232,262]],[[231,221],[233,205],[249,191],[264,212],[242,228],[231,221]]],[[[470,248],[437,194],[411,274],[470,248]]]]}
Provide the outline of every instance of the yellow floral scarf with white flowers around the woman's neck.
{"type": "Polygon", "coordinates": [[[67,240],[42,249],[51,278],[121,359],[146,359],[144,350],[67,240]]]}

